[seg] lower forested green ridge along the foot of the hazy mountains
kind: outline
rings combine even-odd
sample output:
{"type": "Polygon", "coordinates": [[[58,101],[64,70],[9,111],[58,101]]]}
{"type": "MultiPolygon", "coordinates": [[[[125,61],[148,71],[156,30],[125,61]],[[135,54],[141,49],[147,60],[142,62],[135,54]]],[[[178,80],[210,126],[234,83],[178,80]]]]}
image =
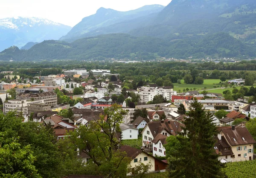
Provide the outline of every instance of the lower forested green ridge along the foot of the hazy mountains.
{"type": "Polygon", "coordinates": [[[53,59],[133,59],[158,57],[256,57],[256,48],[237,40],[228,33],[200,35],[200,38],[168,41],[155,37],[133,37],[128,34],[106,34],[76,40],[72,43],[47,40],[29,50],[8,48],[0,60],[53,59]]]}

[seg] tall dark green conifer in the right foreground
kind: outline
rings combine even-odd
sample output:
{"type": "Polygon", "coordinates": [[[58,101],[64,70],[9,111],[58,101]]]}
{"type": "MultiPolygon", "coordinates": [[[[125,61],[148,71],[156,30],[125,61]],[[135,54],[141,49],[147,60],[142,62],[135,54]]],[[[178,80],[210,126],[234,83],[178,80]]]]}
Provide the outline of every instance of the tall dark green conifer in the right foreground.
{"type": "Polygon", "coordinates": [[[191,104],[185,128],[179,136],[167,138],[165,146],[172,178],[223,178],[221,163],[213,149],[217,133],[212,114],[197,100],[191,104]]]}

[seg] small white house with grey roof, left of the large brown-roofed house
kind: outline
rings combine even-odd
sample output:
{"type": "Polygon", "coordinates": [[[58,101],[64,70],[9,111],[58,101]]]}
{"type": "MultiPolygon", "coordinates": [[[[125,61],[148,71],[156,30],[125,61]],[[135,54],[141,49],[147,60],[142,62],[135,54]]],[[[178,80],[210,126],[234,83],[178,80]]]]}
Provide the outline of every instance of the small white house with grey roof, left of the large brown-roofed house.
{"type": "Polygon", "coordinates": [[[122,130],[123,140],[138,139],[138,129],[133,127],[133,125],[122,123],[119,127],[122,130]]]}

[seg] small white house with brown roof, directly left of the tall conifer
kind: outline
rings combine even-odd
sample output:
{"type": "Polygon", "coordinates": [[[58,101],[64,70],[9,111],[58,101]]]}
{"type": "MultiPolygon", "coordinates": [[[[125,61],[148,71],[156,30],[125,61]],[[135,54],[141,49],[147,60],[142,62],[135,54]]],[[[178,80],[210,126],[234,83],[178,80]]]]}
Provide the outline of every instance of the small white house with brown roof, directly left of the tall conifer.
{"type": "Polygon", "coordinates": [[[152,140],[153,142],[153,156],[166,156],[166,149],[163,147],[166,142],[167,136],[159,133],[157,136],[152,140]]]}

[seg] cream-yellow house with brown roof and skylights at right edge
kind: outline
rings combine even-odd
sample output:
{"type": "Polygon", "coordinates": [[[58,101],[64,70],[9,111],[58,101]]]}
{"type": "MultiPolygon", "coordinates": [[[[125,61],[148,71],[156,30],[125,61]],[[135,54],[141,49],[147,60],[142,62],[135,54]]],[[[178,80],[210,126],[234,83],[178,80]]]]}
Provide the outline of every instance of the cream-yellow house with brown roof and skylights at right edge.
{"type": "Polygon", "coordinates": [[[246,127],[235,127],[221,129],[221,140],[226,139],[233,155],[230,159],[234,161],[253,160],[253,139],[246,127]],[[223,136],[223,137],[222,137],[223,136]]]}

